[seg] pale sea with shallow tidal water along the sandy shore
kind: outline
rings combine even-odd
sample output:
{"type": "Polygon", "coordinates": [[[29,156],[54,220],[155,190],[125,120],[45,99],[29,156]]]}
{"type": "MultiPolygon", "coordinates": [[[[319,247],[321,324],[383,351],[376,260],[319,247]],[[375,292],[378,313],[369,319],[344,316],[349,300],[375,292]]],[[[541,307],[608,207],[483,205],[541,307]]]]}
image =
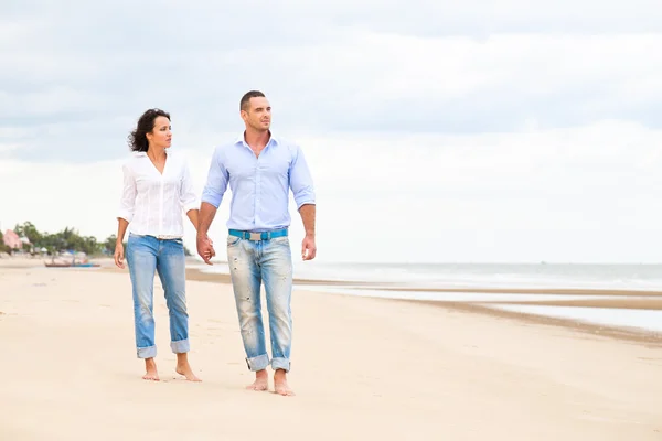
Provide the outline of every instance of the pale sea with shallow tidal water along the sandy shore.
{"type": "MultiPolygon", "coordinates": [[[[637,299],[638,292],[662,292],[662,265],[656,263],[335,263],[295,262],[295,288],[310,292],[362,297],[474,302],[488,308],[570,319],[606,326],[662,333],[662,310],[536,305],[549,300],[637,299]],[[462,292],[437,291],[462,289],[462,292]],[[500,289],[499,293],[484,292],[500,289]],[[509,293],[512,289],[514,292],[509,293]],[[543,292],[521,292],[527,289],[543,292]],[[573,294],[555,290],[577,290],[573,294]],[[549,290],[548,293],[544,292],[549,290]],[[628,295],[587,295],[581,290],[630,291],[628,295]],[[520,292],[517,292],[520,291],[520,292]],[[527,302],[513,304],[512,302],[527,302]],[[509,302],[500,304],[499,302],[509,302]]],[[[206,272],[227,273],[225,262],[206,272]]],[[[648,297],[648,299],[651,299],[648,297]]],[[[662,295],[653,299],[662,300],[662,295]]]]}

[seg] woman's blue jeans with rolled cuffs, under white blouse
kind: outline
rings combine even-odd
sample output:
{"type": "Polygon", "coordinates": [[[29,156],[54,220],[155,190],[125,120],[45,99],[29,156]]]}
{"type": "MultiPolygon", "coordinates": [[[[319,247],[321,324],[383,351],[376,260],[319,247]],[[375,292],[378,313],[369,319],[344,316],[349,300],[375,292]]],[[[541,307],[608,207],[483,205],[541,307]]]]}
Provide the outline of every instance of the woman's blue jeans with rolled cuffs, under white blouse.
{"type": "Polygon", "coordinates": [[[170,348],[190,351],[186,312],[186,272],[184,244],[181,239],[160,240],[153,236],[129,234],[127,262],[134,287],[134,321],[138,358],[157,355],[154,343],[153,292],[159,275],[170,312],[170,348]]]}

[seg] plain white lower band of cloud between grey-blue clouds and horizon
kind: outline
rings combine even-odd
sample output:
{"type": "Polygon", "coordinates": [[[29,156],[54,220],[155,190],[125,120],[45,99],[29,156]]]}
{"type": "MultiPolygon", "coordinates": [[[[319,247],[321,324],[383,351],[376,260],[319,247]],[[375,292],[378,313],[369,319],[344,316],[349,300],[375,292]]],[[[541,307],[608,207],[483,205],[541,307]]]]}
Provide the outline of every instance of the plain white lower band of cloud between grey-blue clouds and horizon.
{"type": "MultiPolygon", "coordinates": [[[[520,133],[297,141],[316,180],[320,260],[659,261],[661,130],[602,121],[520,133]]],[[[199,192],[211,152],[185,151],[199,192]]],[[[119,163],[3,161],[0,222],[76,226],[103,239],[116,230],[119,163]]],[[[302,228],[290,212],[296,250],[302,228]]],[[[225,204],[212,228],[217,244],[227,215],[225,204]]],[[[192,250],[194,237],[186,225],[192,250]]]]}

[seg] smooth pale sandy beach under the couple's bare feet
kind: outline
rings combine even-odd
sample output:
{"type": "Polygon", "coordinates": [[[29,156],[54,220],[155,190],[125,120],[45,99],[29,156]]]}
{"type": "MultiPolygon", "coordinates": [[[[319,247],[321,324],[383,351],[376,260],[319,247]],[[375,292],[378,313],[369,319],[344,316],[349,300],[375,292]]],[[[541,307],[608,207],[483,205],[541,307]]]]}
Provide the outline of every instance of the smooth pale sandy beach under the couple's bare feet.
{"type": "Polygon", "coordinates": [[[662,440],[651,336],[296,291],[297,396],[280,397],[244,389],[232,288],[190,271],[191,363],[203,383],[173,370],[158,279],[161,381],[150,383],[135,355],[128,272],[40,263],[0,259],[1,440],[662,440]]]}

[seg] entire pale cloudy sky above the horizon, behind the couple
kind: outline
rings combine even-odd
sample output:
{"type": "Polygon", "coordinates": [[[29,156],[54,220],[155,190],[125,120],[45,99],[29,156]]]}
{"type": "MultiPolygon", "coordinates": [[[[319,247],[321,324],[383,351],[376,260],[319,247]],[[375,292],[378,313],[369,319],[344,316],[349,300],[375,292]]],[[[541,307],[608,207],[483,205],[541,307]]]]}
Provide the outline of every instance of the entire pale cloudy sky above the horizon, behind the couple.
{"type": "Polygon", "coordinates": [[[662,262],[661,46],[652,0],[1,0],[0,228],[116,233],[151,107],[201,193],[259,89],[319,261],[662,262]]]}

